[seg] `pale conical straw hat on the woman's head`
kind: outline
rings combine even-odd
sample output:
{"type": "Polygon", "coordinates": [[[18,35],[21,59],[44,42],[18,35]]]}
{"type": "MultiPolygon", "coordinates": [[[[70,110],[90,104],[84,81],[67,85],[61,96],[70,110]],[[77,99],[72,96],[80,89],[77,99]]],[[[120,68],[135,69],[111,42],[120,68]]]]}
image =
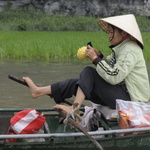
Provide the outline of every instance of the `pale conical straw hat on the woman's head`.
{"type": "Polygon", "coordinates": [[[98,24],[106,32],[108,31],[108,24],[116,26],[133,36],[140,42],[142,48],[144,47],[141,32],[133,14],[98,19],[98,24]]]}

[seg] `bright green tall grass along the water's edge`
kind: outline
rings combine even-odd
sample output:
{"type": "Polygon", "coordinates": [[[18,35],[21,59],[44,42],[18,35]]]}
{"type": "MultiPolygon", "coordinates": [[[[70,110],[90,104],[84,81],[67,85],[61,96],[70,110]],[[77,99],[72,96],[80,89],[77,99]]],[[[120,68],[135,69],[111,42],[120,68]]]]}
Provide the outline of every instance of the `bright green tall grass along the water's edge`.
{"type": "MultiPolygon", "coordinates": [[[[144,57],[150,60],[150,32],[143,32],[144,57]]],[[[110,53],[104,32],[0,31],[0,58],[36,60],[76,58],[78,48],[91,41],[105,55],[110,53]]]]}

